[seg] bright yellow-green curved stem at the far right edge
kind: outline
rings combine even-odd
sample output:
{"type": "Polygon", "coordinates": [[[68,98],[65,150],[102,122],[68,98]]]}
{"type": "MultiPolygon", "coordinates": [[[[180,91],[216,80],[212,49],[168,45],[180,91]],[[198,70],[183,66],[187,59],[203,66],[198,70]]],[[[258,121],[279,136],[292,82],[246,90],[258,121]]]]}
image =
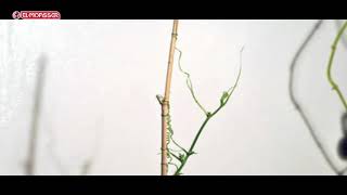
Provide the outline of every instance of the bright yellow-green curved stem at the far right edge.
{"type": "Polygon", "coordinates": [[[339,90],[337,83],[334,81],[333,77],[332,77],[332,67],[333,67],[333,62],[334,62],[334,57],[335,57],[335,53],[336,53],[336,48],[337,48],[337,44],[342,38],[342,36],[344,35],[345,30],[347,29],[347,22],[345,22],[345,24],[343,25],[343,27],[339,29],[335,40],[334,40],[334,43],[332,46],[332,52],[331,52],[331,55],[330,55],[330,58],[329,58],[329,64],[327,64],[327,73],[326,73],[326,76],[327,76],[327,80],[330,82],[330,84],[333,87],[333,90],[336,91],[340,102],[343,103],[345,109],[347,110],[347,102],[346,102],[346,99],[344,98],[342,91],[339,90]]]}

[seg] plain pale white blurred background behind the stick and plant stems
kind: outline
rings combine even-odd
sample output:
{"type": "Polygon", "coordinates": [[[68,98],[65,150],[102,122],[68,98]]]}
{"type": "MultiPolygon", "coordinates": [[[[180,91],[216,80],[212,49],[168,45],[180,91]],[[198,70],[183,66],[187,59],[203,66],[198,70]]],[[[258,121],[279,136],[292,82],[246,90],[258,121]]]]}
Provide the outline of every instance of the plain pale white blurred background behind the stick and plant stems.
{"type": "MultiPolygon", "coordinates": [[[[291,61],[314,23],[180,21],[181,63],[209,110],[233,84],[245,47],[240,86],[208,123],[183,173],[334,174],[288,95],[291,61]]],[[[0,174],[28,173],[28,159],[33,174],[159,174],[155,95],[164,92],[171,26],[172,21],[1,21],[0,174]]],[[[295,86],[343,168],[336,144],[344,107],[325,78],[337,26],[324,21],[298,62],[295,86]]],[[[333,69],[345,94],[346,52],[340,44],[333,69]]],[[[171,117],[176,140],[189,146],[204,115],[177,63],[171,117]]]]}

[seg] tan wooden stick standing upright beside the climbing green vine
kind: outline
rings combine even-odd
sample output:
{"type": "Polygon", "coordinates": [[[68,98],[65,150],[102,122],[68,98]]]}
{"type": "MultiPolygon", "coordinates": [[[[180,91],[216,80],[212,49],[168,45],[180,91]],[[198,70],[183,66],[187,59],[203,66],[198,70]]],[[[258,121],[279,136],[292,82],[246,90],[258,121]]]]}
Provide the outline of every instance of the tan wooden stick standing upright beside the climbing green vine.
{"type": "Polygon", "coordinates": [[[170,100],[170,88],[172,77],[172,65],[177,41],[178,20],[174,20],[174,27],[171,34],[171,43],[169,51],[169,62],[166,75],[165,95],[162,103],[162,176],[167,176],[168,164],[167,164],[167,122],[166,116],[169,114],[169,100],[170,100]]]}

